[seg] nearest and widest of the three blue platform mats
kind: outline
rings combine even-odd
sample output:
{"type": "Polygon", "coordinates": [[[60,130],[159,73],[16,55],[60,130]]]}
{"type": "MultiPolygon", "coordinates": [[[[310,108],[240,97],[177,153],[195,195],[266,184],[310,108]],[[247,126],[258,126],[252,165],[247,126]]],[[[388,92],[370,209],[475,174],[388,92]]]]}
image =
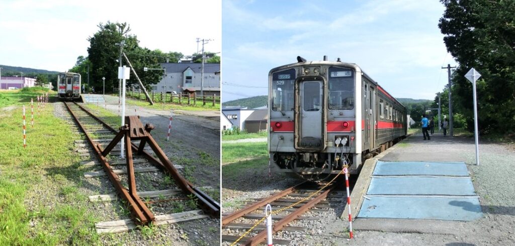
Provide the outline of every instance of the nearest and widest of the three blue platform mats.
{"type": "Polygon", "coordinates": [[[477,198],[369,197],[358,217],[471,221],[483,217],[477,198]]]}

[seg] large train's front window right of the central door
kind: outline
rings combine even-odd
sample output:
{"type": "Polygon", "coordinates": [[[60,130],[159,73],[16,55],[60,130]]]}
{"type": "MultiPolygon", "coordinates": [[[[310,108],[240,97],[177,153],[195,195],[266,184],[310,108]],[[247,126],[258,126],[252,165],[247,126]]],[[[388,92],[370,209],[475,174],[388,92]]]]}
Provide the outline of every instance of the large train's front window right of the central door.
{"type": "Polygon", "coordinates": [[[329,68],[329,110],[354,108],[354,70],[329,68]]]}

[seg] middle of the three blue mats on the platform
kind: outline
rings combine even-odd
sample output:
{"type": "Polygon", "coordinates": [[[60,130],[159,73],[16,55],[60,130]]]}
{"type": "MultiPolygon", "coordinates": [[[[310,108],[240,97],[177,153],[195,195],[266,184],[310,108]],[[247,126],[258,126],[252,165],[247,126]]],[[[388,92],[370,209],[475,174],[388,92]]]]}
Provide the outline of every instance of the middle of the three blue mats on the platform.
{"type": "Polygon", "coordinates": [[[470,178],[388,177],[372,178],[367,195],[475,196],[470,178]]]}

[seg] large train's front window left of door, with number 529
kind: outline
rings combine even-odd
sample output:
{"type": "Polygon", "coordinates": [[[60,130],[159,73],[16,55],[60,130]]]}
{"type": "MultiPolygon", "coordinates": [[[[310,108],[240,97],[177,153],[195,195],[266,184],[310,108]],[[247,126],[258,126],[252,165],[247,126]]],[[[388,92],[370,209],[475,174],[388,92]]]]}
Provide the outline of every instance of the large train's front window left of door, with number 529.
{"type": "Polygon", "coordinates": [[[295,69],[272,73],[272,110],[294,110],[295,69]]]}

